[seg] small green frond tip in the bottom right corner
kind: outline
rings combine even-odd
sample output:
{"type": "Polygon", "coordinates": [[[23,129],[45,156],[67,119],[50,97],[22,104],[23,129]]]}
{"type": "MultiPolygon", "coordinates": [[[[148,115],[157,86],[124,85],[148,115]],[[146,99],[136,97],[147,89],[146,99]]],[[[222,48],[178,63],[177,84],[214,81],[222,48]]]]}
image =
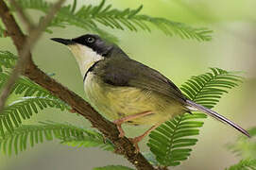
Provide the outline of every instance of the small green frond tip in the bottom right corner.
{"type": "Polygon", "coordinates": [[[256,160],[247,159],[239,161],[237,164],[226,168],[225,170],[256,170],[256,160]]]}

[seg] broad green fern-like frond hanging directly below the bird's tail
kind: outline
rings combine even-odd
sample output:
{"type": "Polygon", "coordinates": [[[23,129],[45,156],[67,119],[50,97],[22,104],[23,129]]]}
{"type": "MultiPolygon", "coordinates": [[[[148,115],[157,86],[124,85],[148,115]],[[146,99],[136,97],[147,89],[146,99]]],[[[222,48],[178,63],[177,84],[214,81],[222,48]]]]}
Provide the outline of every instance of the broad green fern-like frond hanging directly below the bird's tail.
{"type": "Polygon", "coordinates": [[[188,159],[192,151],[190,147],[197,142],[193,136],[198,135],[198,127],[203,126],[203,122],[195,121],[196,118],[206,118],[206,115],[177,116],[150,133],[147,145],[160,164],[177,166],[188,159]]]}

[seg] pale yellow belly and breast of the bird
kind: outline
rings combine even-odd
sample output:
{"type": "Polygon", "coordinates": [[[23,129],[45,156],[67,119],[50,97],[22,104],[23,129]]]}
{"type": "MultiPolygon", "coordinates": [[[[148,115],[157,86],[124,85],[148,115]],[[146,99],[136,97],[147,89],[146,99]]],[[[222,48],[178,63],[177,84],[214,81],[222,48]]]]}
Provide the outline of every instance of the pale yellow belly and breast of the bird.
{"type": "Polygon", "coordinates": [[[111,120],[151,111],[152,114],[129,123],[157,125],[185,112],[181,104],[160,93],[133,87],[114,87],[102,82],[92,73],[85,79],[84,90],[94,109],[111,120]]]}

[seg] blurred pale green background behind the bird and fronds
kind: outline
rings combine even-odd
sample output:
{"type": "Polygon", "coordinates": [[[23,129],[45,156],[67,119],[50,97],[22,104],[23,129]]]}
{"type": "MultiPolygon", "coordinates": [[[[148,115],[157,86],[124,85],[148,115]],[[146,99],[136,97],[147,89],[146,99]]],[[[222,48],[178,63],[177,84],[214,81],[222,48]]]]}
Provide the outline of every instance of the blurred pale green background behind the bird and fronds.
{"type": "MultiPolygon", "coordinates": [[[[72,2],[71,0],[69,2],[72,2]]],[[[99,1],[78,1],[79,5],[99,1]]],[[[209,71],[209,67],[243,71],[245,83],[230,91],[215,108],[242,127],[255,126],[256,105],[256,1],[254,0],[109,0],[115,8],[137,8],[144,5],[142,13],[151,16],[187,23],[191,26],[207,26],[213,29],[211,42],[180,40],[167,37],[154,29],[151,33],[139,31],[110,30],[120,40],[119,45],[130,58],[137,59],[162,72],[178,86],[190,76],[209,71]]],[[[33,12],[33,11],[32,11],[33,12]]],[[[88,33],[70,26],[53,29],[53,34],[45,33],[33,50],[38,66],[54,76],[63,85],[84,97],[82,77],[79,75],[76,60],[63,45],[52,42],[53,37],[74,38],[88,33]]],[[[0,49],[15,52],[10,39],[0,39],[0,49]]],[[[69,122],[90,127],[90,123],[76,114],[45,110],[33,116],[25,124],[52,120],[69,122]]],[[[135,136],[145,127],[126,127],[128,135],[135,136]]],[[[237,131],[208,118],[200,130],[199,142],[192,156],[174,170],[216,170],[224,169],[239,160],[225,144],[232,142],[237,131]]],[[[143,150],[146,150],[142,144],[143,150]]],[[[0,155],[2,170],[87,170],[108,164],[128,165],[121,156],[101,151],[98,148],[74,148],[46,142],[29,148],[18,156],[0,155]]]]}

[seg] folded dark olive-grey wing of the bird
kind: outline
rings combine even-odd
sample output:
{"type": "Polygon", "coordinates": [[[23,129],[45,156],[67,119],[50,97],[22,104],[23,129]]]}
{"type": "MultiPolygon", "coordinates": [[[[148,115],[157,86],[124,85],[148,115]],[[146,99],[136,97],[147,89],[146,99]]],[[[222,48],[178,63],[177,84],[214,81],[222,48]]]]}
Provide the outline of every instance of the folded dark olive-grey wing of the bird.
{"type": "Polygon", "coordinates": [[[100,67],[96,73],[105,83],[162,93],[185,103],[186,97],[171,80],[136,60],[110,59],[100,67]]]}

